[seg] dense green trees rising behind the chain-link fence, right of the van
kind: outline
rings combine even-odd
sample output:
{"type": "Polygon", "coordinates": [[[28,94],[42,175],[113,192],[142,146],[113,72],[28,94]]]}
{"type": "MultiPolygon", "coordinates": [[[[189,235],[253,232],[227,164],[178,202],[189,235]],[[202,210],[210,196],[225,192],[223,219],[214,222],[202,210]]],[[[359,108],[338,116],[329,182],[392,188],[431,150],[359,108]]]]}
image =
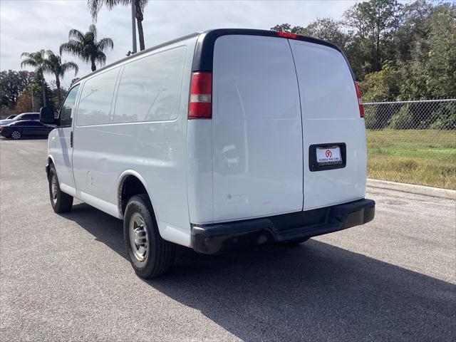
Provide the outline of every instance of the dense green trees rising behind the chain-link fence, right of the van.
{"type": "Polygon", "coordinates": [[[371,0],[342,20],[318,18],[275,31],[314,36],[346,53],[364,102],[456,98],[456,3],[371,0]]]}

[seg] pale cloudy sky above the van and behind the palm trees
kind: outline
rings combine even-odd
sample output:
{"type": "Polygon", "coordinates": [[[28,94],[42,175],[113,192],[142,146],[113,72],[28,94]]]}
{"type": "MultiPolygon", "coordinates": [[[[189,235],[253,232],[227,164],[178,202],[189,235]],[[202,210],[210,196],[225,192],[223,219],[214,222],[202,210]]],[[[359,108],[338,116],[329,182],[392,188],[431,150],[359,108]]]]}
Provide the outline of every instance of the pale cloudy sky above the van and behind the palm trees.
{"type": "MultiPolygon", "coordinates": [[[[281,23],[305,26],[317,17],[341,18],[357,1],[150,1],[143,27],[146,48],[192,32],[210,28],[269,29],[281,23]]],[[[58,53],[68,40],[68,31],[87,31],[92,23],[86,0],[0,0],[0,70],[21,68],[21,53],[41,48],[58,53]]],[[[114,40],[107,63],[125,56],[131,49],[131,16],[128,7],[112,11],[103,8],[97,21],[99,38],[114,40]]],[[[90,66],[64,54],[63,60],[79,65],[78,76],[90,66]]],[[[63,80],[68,84],[73,75],[63,80]]],[[[46,76],[51,81],[52,76],[46,76]]]]}

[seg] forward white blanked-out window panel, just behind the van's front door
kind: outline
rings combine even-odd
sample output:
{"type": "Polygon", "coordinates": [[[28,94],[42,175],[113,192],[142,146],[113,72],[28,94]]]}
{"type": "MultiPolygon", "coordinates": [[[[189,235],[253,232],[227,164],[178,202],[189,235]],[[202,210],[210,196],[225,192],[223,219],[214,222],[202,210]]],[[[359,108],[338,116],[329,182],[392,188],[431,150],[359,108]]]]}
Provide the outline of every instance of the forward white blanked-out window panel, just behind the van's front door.
{"type": "Polygon", "coordinates": [[[110,123],[110,108],[119,68],[89,78],[78,106],[78,126],[110,123]]]}

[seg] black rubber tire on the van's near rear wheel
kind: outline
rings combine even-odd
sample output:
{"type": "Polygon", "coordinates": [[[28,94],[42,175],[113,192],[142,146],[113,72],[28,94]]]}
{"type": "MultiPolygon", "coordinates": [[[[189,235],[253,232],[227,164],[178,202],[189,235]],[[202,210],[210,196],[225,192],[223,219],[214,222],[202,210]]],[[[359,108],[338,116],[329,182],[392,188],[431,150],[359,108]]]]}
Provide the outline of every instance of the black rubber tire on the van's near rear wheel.
{"type": "MultiPolygon", "coordinates": [[[[123,235],[130,263],[141,278],[150,279],[165,274],[174,263],[175,244],[160,237],[152,204],[150,204],[147,195],[135,195],[128,200],[123,217],[123,235]],[[138,215],[142,219],[143,225],[136,225],[136,229],[143,229],[147,236],[147,252],[145,252],[145,259],[142,261],[138,259],[138,254],[135,254],[135,252],[138,253],[139,245],[133,242],[136,246],[134,252],[130,239],[130,224],[135,227],[135,218],[138,219],[138,215]]],[[[140,237],[144,237],[144,235],[142,234],[140,237]]]]}

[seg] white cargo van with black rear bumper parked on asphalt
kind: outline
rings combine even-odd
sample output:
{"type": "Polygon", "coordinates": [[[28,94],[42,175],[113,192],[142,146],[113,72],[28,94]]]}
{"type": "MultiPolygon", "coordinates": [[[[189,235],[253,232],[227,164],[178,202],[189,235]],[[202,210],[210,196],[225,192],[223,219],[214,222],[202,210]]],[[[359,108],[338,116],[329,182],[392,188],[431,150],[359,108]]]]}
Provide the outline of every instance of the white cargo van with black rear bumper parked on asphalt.
{"type": "MultiPolygon", "coordinates": [[[[41,121],[52,123],[48,108],[41,121]]],[[[81,78],[48,138],[51,204],[123,219],[138,275],[369,222],[363,106],[331,43],[217,29],[81,78]]]]}

